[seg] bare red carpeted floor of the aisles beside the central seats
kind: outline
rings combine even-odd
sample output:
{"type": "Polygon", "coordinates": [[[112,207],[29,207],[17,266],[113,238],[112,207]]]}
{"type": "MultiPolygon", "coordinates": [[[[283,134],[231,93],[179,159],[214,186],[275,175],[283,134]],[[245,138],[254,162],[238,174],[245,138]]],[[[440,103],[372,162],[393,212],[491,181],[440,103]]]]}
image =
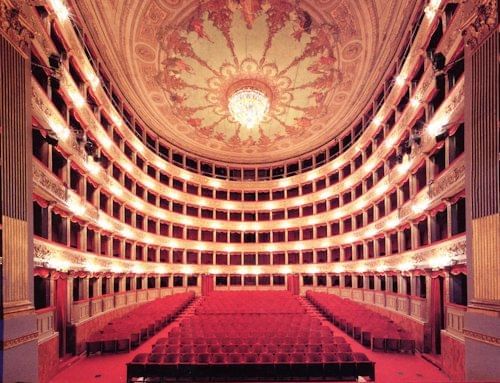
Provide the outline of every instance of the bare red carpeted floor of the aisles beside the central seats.
{"type": "MultiPolygon", "coordinates": [[[[314,307],[301,300],[308,308],[310,315],[320,316],[314,307]]],[[[126,363],[131,361],[134,355],[141,352],[150,352],[151,346],[157,338],[165,337],[167,333],[183,318],[193,315],[195,302],[176,321],[164,328],[154,337],[143,343],[140,347],[127,354],[114,354],[103,356],[91,356],[77,360],[73,365],[56,375],[52,383],[124,383],[126,382],[126,363]]],[[[400,355],[372,352],[361,346],[342,331],[327,321],[327,326],[332,326],[337,335],[344,336],[355,352],[364,352],[370,360],[376,362],[376,377],[380,383],[412,383],[412,382],[450,382],[450,379],[437,367],[424,360],[419,354],[400,355]]]]}

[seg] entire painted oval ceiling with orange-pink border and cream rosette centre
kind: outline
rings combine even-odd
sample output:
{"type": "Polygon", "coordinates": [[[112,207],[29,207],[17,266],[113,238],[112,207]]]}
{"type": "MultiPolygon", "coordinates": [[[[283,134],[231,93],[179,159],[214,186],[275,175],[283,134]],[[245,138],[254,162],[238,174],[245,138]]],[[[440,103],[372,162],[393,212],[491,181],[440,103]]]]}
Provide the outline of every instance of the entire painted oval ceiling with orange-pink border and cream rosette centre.
{"type": "Polygon", "coordinates": [[[75,5],[113,80],[152,130],[200,157],[259,164],[308,153],[356,120],[384,78],[413,3],[75,5]],[[251,128],[230,108],[232,96],[244,90],[256,97],[244,102],[265,107],[251,128]]]}

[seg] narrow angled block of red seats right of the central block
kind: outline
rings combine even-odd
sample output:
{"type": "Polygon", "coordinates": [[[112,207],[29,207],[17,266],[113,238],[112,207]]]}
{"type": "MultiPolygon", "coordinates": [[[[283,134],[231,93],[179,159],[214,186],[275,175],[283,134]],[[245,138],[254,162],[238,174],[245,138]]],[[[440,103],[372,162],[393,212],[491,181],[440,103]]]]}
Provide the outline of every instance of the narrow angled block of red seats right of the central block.
{"type": "Polygon", "coordinates": [[[330,322],[373,351],[415,353],[415,340],[405,330],[365,305],[314,291],[306,297],[330,322]]]}

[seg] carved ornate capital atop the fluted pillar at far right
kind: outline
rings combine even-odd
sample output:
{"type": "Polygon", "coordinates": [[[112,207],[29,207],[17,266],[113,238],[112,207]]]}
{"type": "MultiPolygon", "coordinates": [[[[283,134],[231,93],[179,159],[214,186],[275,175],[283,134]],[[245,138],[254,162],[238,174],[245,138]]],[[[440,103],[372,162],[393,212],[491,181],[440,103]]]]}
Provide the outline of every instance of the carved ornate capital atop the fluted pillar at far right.
{"type": "Polygon", "coordinates": [[[498,25],[496,0],[481,0],[475,12],[462,27],[465,45],[475,49],[484,38],[498,25]]]}

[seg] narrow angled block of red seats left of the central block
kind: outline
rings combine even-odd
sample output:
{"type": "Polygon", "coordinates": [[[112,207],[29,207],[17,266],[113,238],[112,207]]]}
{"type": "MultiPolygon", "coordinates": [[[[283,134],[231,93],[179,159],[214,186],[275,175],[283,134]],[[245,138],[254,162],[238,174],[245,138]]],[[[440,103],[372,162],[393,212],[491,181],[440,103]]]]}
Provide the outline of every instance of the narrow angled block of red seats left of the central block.
{"type": "Polygon", "coordinates": [[[181,293],[140,305],[93,333],[87,354],[130,351],[172,322],[194,297],[193,292],[181,293]]]}

